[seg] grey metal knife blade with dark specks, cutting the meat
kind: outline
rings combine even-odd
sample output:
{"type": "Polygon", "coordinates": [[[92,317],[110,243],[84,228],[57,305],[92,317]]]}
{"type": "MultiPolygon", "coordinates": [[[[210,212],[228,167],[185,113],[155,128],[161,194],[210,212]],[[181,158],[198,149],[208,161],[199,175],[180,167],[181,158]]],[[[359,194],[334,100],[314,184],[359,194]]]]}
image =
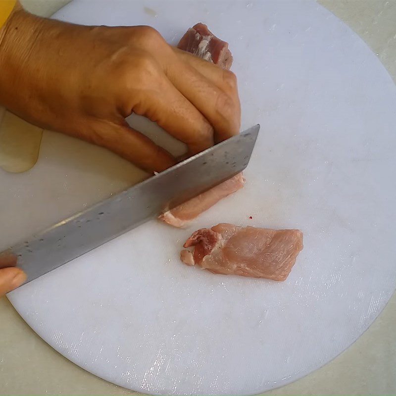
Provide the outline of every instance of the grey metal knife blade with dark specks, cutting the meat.
{"type": "Polygon", "coordinates": [[[28,283],[243,171],[259,129],[255,125],[61,220],[0,257],[16,256],[28,283]]]}

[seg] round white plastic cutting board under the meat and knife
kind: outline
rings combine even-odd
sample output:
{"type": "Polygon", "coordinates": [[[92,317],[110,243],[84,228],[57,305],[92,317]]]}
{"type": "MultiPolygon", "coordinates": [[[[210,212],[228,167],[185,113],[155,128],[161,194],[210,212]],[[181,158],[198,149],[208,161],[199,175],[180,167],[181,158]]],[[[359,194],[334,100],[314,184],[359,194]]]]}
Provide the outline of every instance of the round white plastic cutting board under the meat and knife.
{"type": "MultiPolygon", "coordinates": [[[[172,44],[207,23],[230,43],[243,128],[261,135],[246,188],[189,229],[147,223],[9,294],[27,323],[99,377],[166,395],[265,391],[356,340],[396,285],[396,87],[358,36],[315,2],[78,1],[55,17],[149,24],[172,44]],[[183,240],[218,222],[301,229],[287,281],[182,265],[183,240]]],[[[2,243],[141,176],[46,133],[31,171],[0,173],[2,243]]]]}

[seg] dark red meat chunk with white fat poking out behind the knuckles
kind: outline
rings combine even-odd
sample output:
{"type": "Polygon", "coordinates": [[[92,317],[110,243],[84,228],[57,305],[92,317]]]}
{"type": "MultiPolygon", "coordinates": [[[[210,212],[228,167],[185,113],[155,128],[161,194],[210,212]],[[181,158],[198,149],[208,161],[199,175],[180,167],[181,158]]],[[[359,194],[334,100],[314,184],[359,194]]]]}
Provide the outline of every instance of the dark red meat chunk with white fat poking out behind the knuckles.
{"type": "Polygon", "coordinates": [[[223,69],[229,70],[232,65],[233,58],[228,43],[218,39],[203,23],[197,23],[190,28],[179,41],[177,48],[191,52],[223,69]]]}

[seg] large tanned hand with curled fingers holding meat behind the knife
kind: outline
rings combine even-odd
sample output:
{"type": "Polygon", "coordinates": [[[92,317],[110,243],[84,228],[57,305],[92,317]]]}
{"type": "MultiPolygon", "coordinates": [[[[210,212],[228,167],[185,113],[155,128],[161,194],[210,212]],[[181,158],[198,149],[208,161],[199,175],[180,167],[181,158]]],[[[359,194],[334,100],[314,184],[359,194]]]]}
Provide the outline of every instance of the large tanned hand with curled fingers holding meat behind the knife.
{"type": "Polygon", "coordinates": [[[234,74],[173,49],[154,29],[89,27],[15,11],[0,31],[0,104],[149,171],[175,158],[131,129],[137,113],[197,153],[239,132],[234,74]]]}

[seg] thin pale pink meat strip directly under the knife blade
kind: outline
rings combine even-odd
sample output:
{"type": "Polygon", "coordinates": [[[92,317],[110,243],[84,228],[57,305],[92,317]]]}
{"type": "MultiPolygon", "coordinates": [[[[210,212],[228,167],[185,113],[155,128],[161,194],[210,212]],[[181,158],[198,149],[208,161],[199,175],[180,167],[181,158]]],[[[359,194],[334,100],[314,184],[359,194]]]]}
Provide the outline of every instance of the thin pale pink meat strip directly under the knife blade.
{"type": "Polygon", "coordinates": [[[242,173],[238,173],[231,179],[199,194],[197,197],[182,203],[175,208],[159,215],[158,219],[175,227],[183,227],[189,221],[195,219],[202,212],[216,204],[220,199],[242,189],[245,179],[242,173]]]}

